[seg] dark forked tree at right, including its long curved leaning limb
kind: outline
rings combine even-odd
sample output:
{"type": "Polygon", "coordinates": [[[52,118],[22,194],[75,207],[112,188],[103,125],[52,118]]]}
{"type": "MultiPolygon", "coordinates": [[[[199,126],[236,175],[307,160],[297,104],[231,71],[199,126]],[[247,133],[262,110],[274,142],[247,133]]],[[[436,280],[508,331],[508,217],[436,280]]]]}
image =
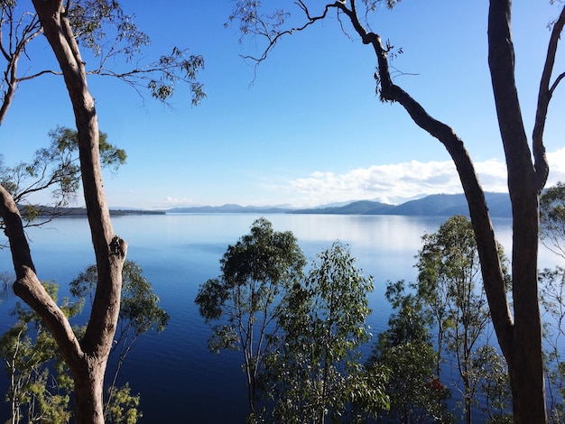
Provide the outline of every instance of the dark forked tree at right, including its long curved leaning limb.
{"type": "MultiPolygon", "coordinates": [[[[538,196],[545,184],[548,166],[542,135],[534,131],[534,166],[524,132],[514,81],[514,47],[510,31],[511,1],[491,0],[488,45],[496,113],[505,148],[508,189],[513,208],[514,319],[506,300],[504,275],[485,194],[465,145],[448,125],[432,118],[408,93],[393,84],[388,67],[388,51],[384,49],[380,36],[375,32],[366,32],[359,22],[355,0],[351,1],[351,9],[341,2],[336,2],[332,6],[338,7],[344,14],[347,14],[362,41],[374,48],[382,100],[400,103],[411,115],[414,123],[443,143],[454,161],[468,200],[469,214],[477,238],[477,250],[491,318],[509,368],[514,422],[546,422],[542,368],[542,322],[537,293],[537,246],[538,196]]],[[[548,52],[548,61],[551,62],[551,66],[553,61],[551,51],[553,49],[554,53],[562,21],[565,21],[565,17],[560,18],[553,31],[551,42],[554,38],[555,46],[552,48],[550,44],[548,52]]],[[[551,71],[547,72],[547,68],[546,63],[542,76],[541,98],[538,104],[538,112],[542,111],[542,118],[539,119],[536,116],[536,129],[539,129],[540,132],[543,127],[538,124],[538,121],[544,122],[545,112],[547,112],[547,107],[544,109],[543,106],[547,106],[551,91],[557,84],[555,83],[551,89],[546,88],[542,93],[544,79],[549,79],[548,75],[551,75],[551,71]]]]}

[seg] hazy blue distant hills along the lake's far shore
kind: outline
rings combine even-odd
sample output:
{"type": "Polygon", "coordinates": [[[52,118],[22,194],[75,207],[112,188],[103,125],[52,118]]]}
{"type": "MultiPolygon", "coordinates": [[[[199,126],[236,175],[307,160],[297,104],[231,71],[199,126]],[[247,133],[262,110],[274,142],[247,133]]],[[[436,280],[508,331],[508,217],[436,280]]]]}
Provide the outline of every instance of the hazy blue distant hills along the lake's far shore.
{"type": "MultiPolygon", "coordinates": [[[[486,203],[491,217],[512,217],[510,197],[507,193],[486,193],[486,203]]],[[[420,217],[451,217],[468,215],[467,199],[463,194],[434,194],[401,205],[388,205],[373,200],[352,201],[344,206],[291,209],[286,207],[242,207],[223,205],[218,207],[175,207],[167,213],[257,213],[257,214],[319,214],[319,215],[403,215],[420,217]]]]}

